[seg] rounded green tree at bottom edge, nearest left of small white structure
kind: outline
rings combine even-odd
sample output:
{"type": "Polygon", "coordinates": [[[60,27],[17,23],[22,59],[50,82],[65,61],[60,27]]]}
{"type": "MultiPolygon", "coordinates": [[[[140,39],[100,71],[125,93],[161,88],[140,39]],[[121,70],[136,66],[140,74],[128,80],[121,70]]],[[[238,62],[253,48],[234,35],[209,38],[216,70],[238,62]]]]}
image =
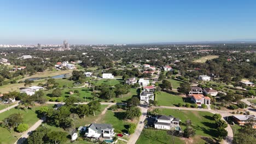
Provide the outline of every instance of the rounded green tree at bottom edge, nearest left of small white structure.
{"type": "Polygon", "coordinates": [[[51,133],[47,134],[47,136],[51,142],[59,144],[60,142],[66,140],[67,134],[63,131],[51,131],[51,133]]]}

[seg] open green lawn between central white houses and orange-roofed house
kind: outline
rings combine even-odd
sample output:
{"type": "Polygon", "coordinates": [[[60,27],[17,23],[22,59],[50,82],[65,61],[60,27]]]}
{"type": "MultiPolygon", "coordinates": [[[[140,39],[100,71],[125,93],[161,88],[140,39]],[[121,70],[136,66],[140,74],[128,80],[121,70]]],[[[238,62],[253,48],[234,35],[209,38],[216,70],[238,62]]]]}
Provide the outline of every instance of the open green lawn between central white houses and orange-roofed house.
{"type": "Polygon", "coordinates": [[[181,103],[183,105],[183,100],[185,100],[185,104],[190,103],[190,98],[173,95],[167,92],[156,93],[156,101],[158,101],[158,105],[161,106],[174,106],[178,105],[178,103],[181,103]]]}

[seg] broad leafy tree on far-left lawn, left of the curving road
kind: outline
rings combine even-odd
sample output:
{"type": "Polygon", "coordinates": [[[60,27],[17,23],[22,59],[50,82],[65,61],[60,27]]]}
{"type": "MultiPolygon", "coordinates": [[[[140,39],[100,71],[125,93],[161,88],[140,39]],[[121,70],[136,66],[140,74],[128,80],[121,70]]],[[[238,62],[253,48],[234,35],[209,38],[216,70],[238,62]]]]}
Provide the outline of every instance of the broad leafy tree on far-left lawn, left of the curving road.
{"type": "Polygon", "coordinates": [[[20,123],[23,122],[22,115],[14,113],[7,118],[3,119],[4,126],[8,129],[17,127],[20,123]]]}

